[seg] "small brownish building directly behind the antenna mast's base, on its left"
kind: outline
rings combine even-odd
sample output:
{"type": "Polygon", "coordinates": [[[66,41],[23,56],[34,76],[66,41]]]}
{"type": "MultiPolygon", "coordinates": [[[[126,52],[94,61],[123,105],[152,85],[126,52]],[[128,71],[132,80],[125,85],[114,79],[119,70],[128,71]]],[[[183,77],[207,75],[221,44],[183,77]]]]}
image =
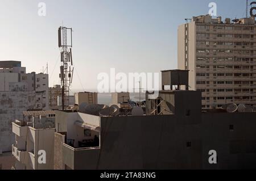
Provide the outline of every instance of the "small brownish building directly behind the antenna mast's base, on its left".
{"type": "Polygon", "coordinates": [[[60,85],[54,85],[49,87],[49,108],[51,110],[59,109],[58,97],[62,95],[62,89],[60,85]]]}

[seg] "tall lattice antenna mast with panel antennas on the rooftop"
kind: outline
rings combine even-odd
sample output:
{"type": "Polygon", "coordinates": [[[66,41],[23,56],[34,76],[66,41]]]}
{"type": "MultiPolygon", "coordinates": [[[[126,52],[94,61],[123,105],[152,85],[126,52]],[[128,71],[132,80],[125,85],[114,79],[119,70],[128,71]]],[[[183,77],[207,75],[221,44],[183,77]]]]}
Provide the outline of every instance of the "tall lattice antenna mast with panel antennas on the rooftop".
{"type": "Polygon", "coordinates": [[[73,66],[72,61],[72,28],[59,27],[59,48],[60,52],[60,80],[62,86],[62,109],[69,106],[69,86],[72,83],[73,66]]]}

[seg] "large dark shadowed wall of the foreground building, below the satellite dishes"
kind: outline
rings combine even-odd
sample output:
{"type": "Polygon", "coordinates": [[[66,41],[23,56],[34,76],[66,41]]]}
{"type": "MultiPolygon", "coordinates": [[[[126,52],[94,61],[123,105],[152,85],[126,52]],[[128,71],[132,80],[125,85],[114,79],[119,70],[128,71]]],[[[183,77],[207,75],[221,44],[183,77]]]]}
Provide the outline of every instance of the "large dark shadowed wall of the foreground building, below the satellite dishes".
{"type": "Polygon", "coordinates": [[[256,169],[255,116],[203,113],[197,123],[175,115],[101,117],[100,150],[65,148],[64,163],[73,169],[256,169]],[[217,151],[217,165],[208,163],[209,150],[217,151]]]}

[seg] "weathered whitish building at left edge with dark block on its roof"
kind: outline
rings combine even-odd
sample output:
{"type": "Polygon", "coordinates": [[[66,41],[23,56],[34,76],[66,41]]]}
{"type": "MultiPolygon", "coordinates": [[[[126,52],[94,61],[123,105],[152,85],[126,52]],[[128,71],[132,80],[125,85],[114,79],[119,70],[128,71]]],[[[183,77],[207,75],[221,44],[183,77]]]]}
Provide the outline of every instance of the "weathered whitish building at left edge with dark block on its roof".
{"type": "Polygon", "coordinates": [[[11,122],[35,107],[35,91],[27,90],[26,68],[20,61],[0,61],[0,152],[11,151],[11,122]]]}

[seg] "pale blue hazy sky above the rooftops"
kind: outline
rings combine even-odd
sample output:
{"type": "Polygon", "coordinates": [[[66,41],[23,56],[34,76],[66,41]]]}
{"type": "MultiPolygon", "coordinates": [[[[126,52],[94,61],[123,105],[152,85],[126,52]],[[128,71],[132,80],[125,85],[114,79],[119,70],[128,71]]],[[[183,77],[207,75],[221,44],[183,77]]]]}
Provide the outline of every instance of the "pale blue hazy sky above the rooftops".
{"type": "Polygon", "coordinates": [[[177,69],[177,27],[208,14],[242,18],[245,0],[0,0],[0,60],[20,60],[27,73],[48,62],[49,86],[59,83],[57,29],[73,28],[73,90],[97,89],[99,73],[160,73],[177,69]],[[46,16],[39,16],[40,2],[46,16]]]}

